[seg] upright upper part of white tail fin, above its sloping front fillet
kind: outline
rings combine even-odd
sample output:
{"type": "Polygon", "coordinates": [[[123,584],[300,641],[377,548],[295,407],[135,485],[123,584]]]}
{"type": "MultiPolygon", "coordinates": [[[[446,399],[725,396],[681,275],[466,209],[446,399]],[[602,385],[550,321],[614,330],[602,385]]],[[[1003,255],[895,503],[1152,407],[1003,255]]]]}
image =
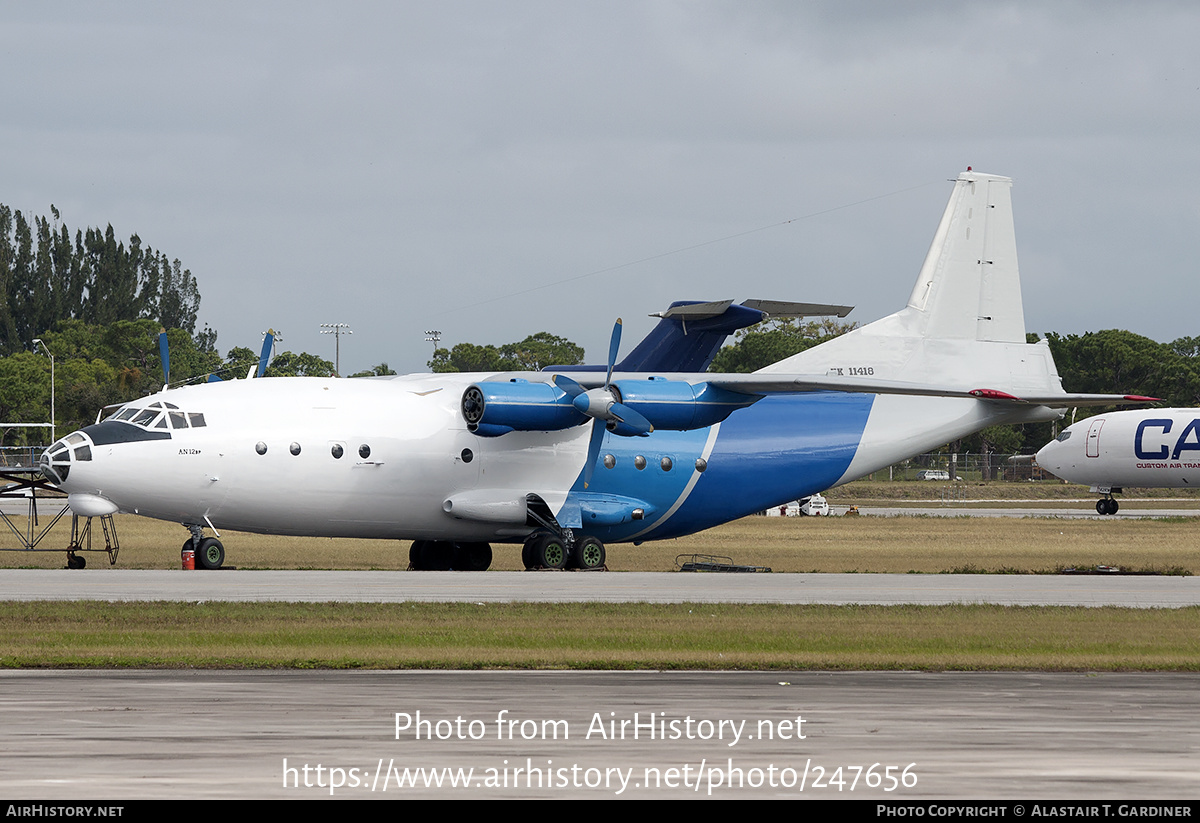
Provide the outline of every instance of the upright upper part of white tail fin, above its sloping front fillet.
{"type": "Polygon", "coordinates": [[[926,337],[1025,342],[1013,181],[965,172],[934,235],[908,307],[926,337]]]}

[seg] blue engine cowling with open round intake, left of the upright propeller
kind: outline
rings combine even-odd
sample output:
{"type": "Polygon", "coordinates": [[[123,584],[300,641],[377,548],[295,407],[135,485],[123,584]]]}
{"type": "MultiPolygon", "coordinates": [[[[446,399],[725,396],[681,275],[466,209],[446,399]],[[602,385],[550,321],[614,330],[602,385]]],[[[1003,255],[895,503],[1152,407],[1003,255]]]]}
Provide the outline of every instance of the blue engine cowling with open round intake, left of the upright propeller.
{"type": "Polygon", "coordinates": [[[475,383],[462,392],[462,416],[467,428],[480,437],[557,432],[588,420],[571,400],[552,383],[475,383]]]}

